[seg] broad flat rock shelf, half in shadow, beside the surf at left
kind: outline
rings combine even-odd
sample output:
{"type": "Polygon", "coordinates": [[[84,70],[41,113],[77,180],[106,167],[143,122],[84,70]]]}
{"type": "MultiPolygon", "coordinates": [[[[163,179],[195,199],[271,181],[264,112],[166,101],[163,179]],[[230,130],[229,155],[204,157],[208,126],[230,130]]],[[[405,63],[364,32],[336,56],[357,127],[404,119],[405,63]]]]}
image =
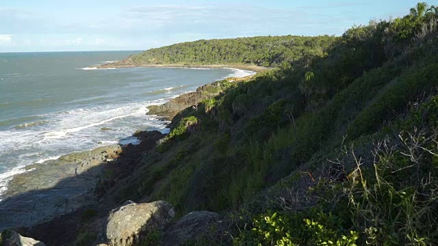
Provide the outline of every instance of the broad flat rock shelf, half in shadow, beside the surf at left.
{"type": "Polygon", "coordinates": [[[0,231],[29,228],[84,206],[97,206],[105,187],[129,176],[144,152],[163,136],[159,131],[139,131],[134,135],[141,140],[139,145],[104,146],[31,165],[29,172],[14,176],[1,197],[0,231]]]}

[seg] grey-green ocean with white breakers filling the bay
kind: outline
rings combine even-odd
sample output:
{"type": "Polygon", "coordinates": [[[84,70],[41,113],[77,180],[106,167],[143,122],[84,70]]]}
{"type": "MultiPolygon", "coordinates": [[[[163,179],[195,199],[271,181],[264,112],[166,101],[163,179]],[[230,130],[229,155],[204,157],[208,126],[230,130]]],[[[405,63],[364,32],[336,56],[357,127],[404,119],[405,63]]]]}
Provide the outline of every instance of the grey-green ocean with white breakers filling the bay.
{"type": "Polygon", "coordinates": [[[94,66],[136,51],[0,53],[0,199],[25,166],[113,143],[137,130],[168,131],[146,115],[196,87],[252,72],[224,68],[94,66]]]}

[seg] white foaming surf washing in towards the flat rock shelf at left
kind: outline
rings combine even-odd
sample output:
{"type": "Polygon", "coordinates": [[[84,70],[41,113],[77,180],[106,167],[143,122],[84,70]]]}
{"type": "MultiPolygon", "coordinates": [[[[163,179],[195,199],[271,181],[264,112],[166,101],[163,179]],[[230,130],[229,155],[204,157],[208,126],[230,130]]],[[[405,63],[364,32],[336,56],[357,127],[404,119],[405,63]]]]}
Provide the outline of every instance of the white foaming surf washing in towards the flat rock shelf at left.
{"type": "MultiPolygon", "coordinates": [[[[96,70],[99,68],[77,69],[96,70]]],[[[236,76],[236,71],[233,70],[233,76],[236,76]]],[[[146,107],[160,105],[171,98],[176,98],[180,90],[183,90],[180,87],[185,87],[185,85],[175,84],[168,86],[173,87],[168,87],[167,90],[162,89],[163,95],[165,94],[163,91],[172,91],[166,93],[166,98],[47,113],[39,115],[37,119],[20,120],[21,122],[12,124],[12,126],[23,122],[49,119],[50,122],[47,124],[0,131],[0,139],[2,139],[0,141],[0,165],[2,165],[0,172],[3,172],[0,174],[0,197],[6,191],[12,176],[26,172],[24,169],[26,165],[36,162],[44,163],[44,161],[56,159],[59,155],[70,152],[93,149],[112,143],[124,143],[128,140],[126,136],[131,135],[133,129],[136,128],[146,126],[146,129],[168,132],[164,125],[165,122],[160,122],[159,118],[150,115],[146,116],[148,111],[146,107]],[[102,127],[112,128],[114,131],[110,131],[109,134],[108,131],[101,131],[102,127]],[[27,153],[33,154],[25,156],[27,153]],[[24,155],[20,156],[20,154],[24,155]],[[13,165],[8,166],[9,163],[13,165]]],[[[192,85],[189,87],[192,88],[192,85]]],[[[135,142],[135,139],[130,140],[135,142]]]]}

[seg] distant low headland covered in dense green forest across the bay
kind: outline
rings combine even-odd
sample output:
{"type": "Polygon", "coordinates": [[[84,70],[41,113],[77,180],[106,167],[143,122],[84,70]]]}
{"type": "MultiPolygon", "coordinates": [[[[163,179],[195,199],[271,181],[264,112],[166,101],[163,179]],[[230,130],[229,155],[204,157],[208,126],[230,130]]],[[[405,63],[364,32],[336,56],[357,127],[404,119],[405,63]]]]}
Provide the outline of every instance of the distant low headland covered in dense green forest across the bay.
{"type": "Polygon", "coordinates": [[[127,64],[255,64],[277,66],[303,57],[324,55],[338,38],[333,36],[268,36],[198,40],[132,55],[127,64]]]}

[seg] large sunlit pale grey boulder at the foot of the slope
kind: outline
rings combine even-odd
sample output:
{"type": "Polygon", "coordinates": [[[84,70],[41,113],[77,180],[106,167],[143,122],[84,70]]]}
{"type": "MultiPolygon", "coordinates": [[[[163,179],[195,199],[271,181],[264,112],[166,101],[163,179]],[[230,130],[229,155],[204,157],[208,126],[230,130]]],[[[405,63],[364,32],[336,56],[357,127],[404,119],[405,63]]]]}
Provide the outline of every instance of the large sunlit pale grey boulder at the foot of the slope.
{"type": "Polygon", "coordinates": [[[163,230],[174,216],[175,210],[168,202],[128,201],[110,212],[103,234],[112,246],[139,245],[148,233],[163,230]]]}

